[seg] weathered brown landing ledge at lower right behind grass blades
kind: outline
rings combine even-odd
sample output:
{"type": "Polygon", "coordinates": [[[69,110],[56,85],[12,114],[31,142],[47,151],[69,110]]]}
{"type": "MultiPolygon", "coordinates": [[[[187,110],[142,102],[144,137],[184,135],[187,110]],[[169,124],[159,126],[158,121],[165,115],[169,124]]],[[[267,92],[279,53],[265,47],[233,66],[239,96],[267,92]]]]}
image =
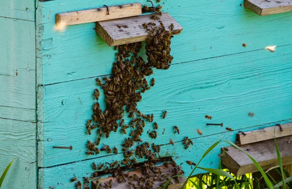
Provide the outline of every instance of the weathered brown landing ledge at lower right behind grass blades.
{"type": "MultiPolygon", "coordinates": [[[[277,138],[277,145],[282,158],[283,165],[289,165],[292,162],[292,135],[277,138]]],[[[241,150],[252,156],[257,163],[267,170],[279,165],[275,150],[274,139],[261,141],[253,144],[239,146],[241,150]]],[[[222,150],[223,151],[223,150],[222,150]]],[[[256,172],[258,169],[247,155],[234,147],[228,147],[226,155],[222,158],[222,164],[235,175],[242,175],[250,172],[256,172]]]]}

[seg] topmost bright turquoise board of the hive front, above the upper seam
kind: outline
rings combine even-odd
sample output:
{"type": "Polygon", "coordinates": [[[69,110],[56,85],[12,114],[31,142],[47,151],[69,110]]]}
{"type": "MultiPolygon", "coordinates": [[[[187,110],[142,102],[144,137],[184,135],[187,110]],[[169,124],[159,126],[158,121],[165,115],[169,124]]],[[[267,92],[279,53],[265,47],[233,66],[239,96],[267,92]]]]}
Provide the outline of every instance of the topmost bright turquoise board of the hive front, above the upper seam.
{"type": "MultiPolygon", "coordinates": [[[[109,4],[131,2],[110,0],[109,4]]],[[[139,2],[145,3],[142,0],[139,2]]],[[[151,3],[148,3],[150,6],[151,3]]],[[[95,33],[94,23],[69,26],[64,33],[52,32],[55,14],[98,6],[103,4],[92,0],[38,2],[37,9],[41,10],[37,17],[40,19],[37,21],[38,35],[42,38],[37,44],[41,49],[39,57],[42,58],[39,63],[43,72],[41,84],[111,73],[115,52],[95,33]]],[[[183,35],[172,39],[173,63],[244,53],[264,49],[268,45],[292,44],[292,24],[287,24],[291,22],[291,12],[258,17],[240,6],[240,1],[234,0],[196,3],[184,0],[179,4],[177,1],[167,1],[163,6],[163,11],[183,27],[183,35]],[[246,48],[242,47],[242,43],[247,44],[246,48]]]]}

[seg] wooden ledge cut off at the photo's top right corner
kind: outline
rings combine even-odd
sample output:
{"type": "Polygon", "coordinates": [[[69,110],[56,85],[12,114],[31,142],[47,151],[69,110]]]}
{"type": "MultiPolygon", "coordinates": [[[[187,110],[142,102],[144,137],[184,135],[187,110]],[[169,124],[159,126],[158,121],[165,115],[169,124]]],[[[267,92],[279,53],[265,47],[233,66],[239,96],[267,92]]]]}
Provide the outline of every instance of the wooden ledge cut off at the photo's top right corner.
{"type": "Polygon", "coordinates": [[[292,11],[291,0],[244,0],[244,7],[258,15],[273,15],[292,11]]]}

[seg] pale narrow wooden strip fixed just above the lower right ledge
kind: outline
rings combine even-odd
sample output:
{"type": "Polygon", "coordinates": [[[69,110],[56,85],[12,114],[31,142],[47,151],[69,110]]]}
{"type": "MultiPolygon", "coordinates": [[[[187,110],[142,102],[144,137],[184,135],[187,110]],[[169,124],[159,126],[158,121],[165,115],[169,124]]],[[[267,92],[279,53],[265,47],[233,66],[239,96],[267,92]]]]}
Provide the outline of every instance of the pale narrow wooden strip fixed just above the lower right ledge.
{"type": "Polygon", "coordinates": [[[283,124],[281,128],[282,131],[279,126],[273,126],[256,131],[244,132],[244,134],[239,132],[237,133],[237,141],[240,145],[243,145],[273,139],[274,133],[276,138],[292,135],[292,123],[283,124]]]}

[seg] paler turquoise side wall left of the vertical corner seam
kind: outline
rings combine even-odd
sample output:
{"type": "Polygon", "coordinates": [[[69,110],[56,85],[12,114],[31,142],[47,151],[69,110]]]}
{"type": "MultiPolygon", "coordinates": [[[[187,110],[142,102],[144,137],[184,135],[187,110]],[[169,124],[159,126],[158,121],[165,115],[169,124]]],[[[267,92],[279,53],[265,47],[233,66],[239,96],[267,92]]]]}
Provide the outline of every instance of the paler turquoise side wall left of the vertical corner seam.
{"type": "Polygon", "coordinates": [[[34,0],[0,2],[1,189],[37,188],[36,29],[34,0]]]}

